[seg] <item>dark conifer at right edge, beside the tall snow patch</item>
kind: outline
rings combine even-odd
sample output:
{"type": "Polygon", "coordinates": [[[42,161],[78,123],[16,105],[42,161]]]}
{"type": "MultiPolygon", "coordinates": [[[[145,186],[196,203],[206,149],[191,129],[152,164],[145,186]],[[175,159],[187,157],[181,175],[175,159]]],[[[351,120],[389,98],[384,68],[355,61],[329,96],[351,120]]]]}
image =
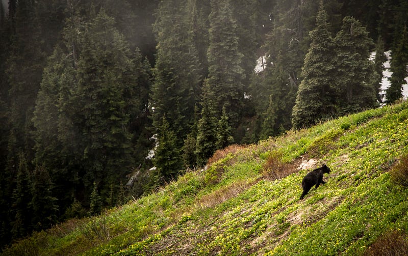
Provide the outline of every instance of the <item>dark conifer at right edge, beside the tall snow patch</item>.
{"type": "Polygon", "coordinates": [[[408,65],[408,32],[404,26],[397,47],[391,52],[391,84],[386,90],[387,103],[391,104],[402,97],[402,85],[406,84],[405,77],[408,76],[406,66],[408,65]]]}

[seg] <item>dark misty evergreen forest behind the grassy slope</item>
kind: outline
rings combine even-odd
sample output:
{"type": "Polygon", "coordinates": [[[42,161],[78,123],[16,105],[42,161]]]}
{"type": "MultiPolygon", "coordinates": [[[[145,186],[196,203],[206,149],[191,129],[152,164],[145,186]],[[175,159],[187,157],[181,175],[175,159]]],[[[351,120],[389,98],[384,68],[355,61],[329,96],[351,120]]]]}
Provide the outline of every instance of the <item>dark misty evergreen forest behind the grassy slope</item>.
{"type": "Polygon", "coordinates": [[[398,101],[407,25],[406,0],[2,1],[1,247],[398,101]]]}

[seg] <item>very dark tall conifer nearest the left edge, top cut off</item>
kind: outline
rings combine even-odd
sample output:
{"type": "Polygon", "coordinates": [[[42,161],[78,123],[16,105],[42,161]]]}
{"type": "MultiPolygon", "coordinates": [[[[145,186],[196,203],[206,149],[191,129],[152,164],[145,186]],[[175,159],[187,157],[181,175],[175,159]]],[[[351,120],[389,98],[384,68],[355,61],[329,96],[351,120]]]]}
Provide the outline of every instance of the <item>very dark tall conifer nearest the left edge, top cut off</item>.
{"type": "Polygon", "coordinates": [[[11,49],[7,58],[11,129],[19,138],[17,147],[30,159],[33,147],[31,118],[46,60],[35,10],[35,1],[15,3],[15,13],[11,18],[11,49]]]}

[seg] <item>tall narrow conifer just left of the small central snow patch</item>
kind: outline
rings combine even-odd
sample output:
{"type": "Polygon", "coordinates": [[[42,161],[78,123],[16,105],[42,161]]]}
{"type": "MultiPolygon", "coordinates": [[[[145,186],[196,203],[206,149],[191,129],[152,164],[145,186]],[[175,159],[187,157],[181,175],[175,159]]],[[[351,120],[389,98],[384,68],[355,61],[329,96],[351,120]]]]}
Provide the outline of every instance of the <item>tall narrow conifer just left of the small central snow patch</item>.
{"type": "Polygon", "coordinates": [[[229,0],[211,1],[211,10],[206,87],[211,91],[211,107],[216,117],[221,117],[225,107],[228,122],[236,128],[242,116],[245,79],[241,67],[243,54],[238,48],[237,22],[229,0]]]}

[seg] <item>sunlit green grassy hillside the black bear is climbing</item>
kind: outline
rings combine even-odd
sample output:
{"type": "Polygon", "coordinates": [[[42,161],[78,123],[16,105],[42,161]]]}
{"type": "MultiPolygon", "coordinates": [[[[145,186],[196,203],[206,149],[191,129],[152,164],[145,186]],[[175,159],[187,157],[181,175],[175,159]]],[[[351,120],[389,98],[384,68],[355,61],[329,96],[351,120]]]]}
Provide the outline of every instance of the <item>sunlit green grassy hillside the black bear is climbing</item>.
{"type": "Polygon", "coordinates": [[[408,253],[408,188],[389,173],[407,153],[402,102],[228,147],[208,168],[190,170],[154,194],[34,234],[4,254],[408,253]],[[312,158],[331,173],[299,200],[309,169],[298,167],[312,158]]]}

